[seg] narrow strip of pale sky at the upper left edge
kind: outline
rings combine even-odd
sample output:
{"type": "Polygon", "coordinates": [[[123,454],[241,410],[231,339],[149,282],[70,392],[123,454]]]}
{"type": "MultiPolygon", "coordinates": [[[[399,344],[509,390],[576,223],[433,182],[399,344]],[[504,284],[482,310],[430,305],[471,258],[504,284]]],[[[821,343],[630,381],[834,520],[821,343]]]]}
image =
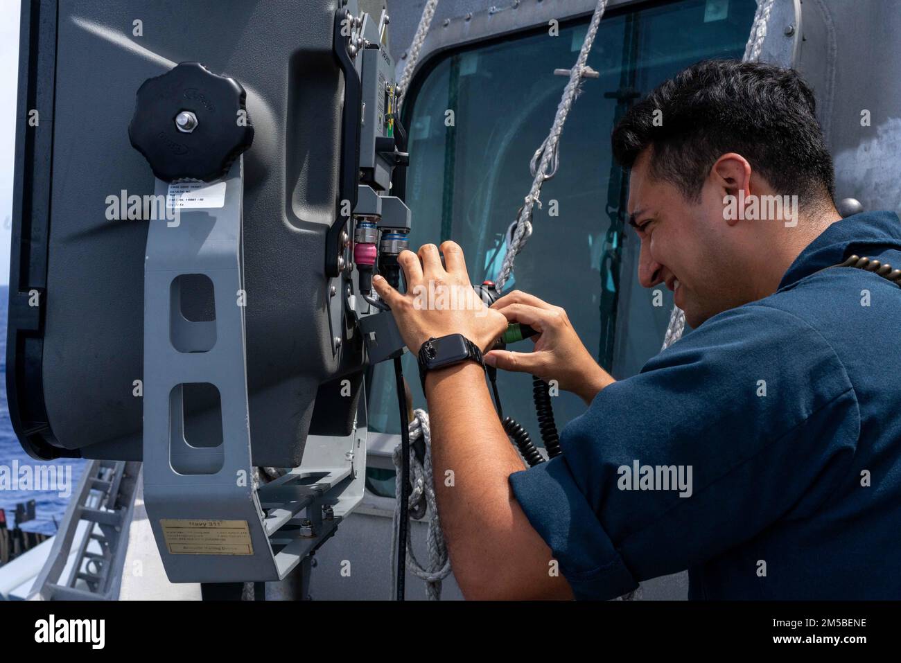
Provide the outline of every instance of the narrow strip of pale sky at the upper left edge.
{"type": "Polygon", "coordinates": [[[19,0],[0,0],[0,285],[9,283],[13,218],[15,105],[19,77],[19,0]]]}

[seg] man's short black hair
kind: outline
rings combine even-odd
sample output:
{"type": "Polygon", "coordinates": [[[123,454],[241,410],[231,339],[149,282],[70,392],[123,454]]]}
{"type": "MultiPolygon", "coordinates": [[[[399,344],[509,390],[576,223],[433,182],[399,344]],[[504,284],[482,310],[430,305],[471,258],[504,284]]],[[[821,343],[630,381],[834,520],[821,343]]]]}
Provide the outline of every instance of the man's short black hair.
{"type": "Polygon", "coordinates": [[[737,152],[779,195],[797,195],[805,208],[825,196],[831,204],[833,159],[815,110],[795,69],[707,59],[629,109],[611,136],[614,159],[632,168],[651,147],[651,175],[696,202],[716,159],[737,152]]]}

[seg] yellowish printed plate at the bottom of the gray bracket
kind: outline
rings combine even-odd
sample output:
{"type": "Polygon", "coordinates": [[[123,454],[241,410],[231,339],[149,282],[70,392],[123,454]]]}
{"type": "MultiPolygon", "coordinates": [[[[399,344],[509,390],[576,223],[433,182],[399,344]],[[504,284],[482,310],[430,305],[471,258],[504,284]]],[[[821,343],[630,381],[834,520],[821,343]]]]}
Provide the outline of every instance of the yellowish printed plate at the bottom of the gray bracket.
{"type": "Polygon", "coordinates": [[[252,555],[247,521],[193,521],[161,518],[170,555],[252,555]]]}

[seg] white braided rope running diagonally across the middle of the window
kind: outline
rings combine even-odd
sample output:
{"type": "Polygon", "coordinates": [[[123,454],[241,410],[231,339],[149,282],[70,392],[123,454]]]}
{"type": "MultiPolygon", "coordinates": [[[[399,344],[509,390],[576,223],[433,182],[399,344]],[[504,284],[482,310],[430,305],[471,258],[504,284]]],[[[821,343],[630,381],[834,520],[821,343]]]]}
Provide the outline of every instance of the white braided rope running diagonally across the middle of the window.
{"type": "MultiPolygon", "coordinates": [[[[557,160],[557,145],[560,143],[560,134],[563,132],[563,125],[566,124],[569,110],[572,108],[572,104],[579,93],[582,83],[582,72],[585,71],[588,53],[595,43],[597,29],[600,27],[601,17],[604,16],[606,6],[607,0],[598,0],[595,14],[591,17],[588,32],[585,34],[585,41],[582,42],[582,50],[578,51],[576,64],[569,71],[569,83],[563,88],[563,96],[560,98],[560,104],[557,106],[557,114],[554,117],[554,123],[551,125],[551,132],[548,133],[548,137],[544,139],[541,147],[538,148],[535,156],[532,157],[532,163],[534,163],[538,160],[537,155],[542,155],[538,168],[532,169],[532,175],[534,176],[532,188],[529,189],[529,195],[525,196],[525,204],[523,204],[523,208],[519,213],[519,219],[516,222],[513,241],[507,247],[500,274],[495,279],[498,290],[504,287],[504,284],[513,272],[513,263],[516,255],[523,250],[525,242],[532,235],[532,208],[535,204],[538,204],[539,208],[542,206],[542,202],[539,199],[539,196],[542,194],[542,185],[553,174],[548,172],[548,167],[557,160]]],[[[556,167],[553,170],[556,171],[556,167]]]]}

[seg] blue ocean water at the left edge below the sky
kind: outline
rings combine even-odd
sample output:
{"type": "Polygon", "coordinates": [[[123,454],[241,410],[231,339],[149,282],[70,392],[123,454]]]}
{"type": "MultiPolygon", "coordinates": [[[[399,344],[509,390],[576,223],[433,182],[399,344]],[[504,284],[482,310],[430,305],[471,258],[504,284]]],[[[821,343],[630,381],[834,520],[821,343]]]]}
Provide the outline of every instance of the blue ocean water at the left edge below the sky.
{"type": "MultiPolygon", "coordinates": [[[[78,479],[85,468],[83,459],[58,459],[48,462],[34,460],[26,454],[19,440],[15,437],[13,424],[9,420],[9,408],[6,404],[6,311],[9,302],[9,286],[0,286],[0,466],[5,466],[12,471],[13,463],[18,460],[19,467],[25,465],[55,465],[72,466],[71,491],[75,492],[78,479]]],[[[59,469],[57,470],[59,472],[59,469]]],[[[40,531],[44,534],[55,534],[57,524],[62,522],[66,512],[68,497],[60,497],[59,491],[41,490],[6,490],[0,486],[0,509],[5,509],[6,520],[12,527],[14,522],[14,509],[18,503],[35,501],[35,520],[25,522],[22,529],[26,531],[40,531]]]]}

